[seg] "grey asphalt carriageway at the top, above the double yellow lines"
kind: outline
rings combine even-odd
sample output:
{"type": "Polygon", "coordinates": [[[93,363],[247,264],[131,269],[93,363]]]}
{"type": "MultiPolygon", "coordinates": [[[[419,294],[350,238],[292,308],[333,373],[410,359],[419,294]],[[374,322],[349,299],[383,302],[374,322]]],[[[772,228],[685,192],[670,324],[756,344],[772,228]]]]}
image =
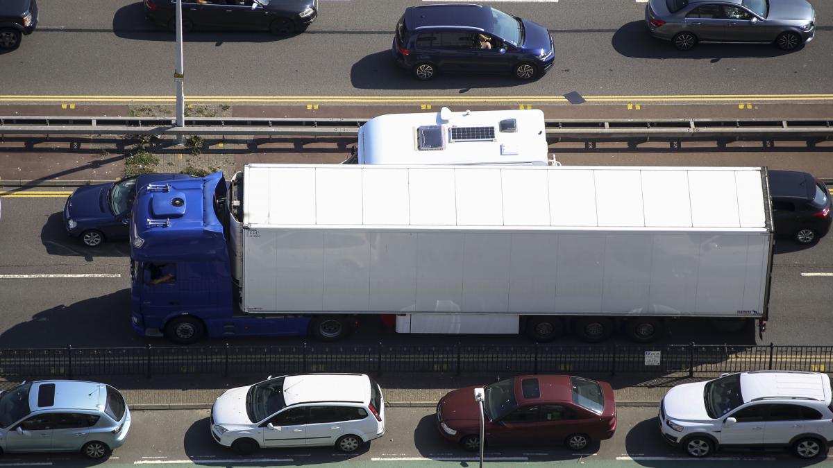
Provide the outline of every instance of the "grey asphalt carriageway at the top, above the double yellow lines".
{"type": "MultiPolygon", "coordinates": [[[[416,82],[392,63],[405,0],[322,0],[307,32],[187,36],[188,95],[561,96],[828,93],[833,3],[814,2],[819,31],[800,51],[703,46],[676,52],[646,35],[634,0],[496,2],[549,27],[556,66],[540,81],[448,76],[416,82]]],[[[145,22],[141,2],[42,0],[39,29],[0,55],[3,95],[170,95],[172,34],[145,22]]]]}

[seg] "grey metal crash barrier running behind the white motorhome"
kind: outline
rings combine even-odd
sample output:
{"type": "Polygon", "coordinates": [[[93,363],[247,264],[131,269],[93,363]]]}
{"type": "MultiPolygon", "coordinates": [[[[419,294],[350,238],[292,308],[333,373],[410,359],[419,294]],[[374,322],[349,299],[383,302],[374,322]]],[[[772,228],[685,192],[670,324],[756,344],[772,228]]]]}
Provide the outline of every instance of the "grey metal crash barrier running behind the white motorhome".
{"type": "MultiPolygon", "coordinates": [[[[355,137],[367,119],[187,117],[0,117],[3,135],[205,135],[355,137]]],[[[551,139],[795,139],[828,140],[833,117],[777,119],[547,120],[551,139]]]]}

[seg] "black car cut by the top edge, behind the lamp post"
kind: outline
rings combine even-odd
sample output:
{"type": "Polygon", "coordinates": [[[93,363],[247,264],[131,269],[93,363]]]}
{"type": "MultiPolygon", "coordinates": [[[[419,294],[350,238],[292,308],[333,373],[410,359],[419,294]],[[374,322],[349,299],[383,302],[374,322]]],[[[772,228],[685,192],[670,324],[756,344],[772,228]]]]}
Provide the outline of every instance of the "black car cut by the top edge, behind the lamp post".
{"type": "MultiPolygon", "coordinates": [[[[145,17],[177,28],[176,0],[144,0],[145,17]]],[[[193,29],[270,31],[289,36],[318,17],[318,0],[182,0],[182,32],[193,29]]]]}

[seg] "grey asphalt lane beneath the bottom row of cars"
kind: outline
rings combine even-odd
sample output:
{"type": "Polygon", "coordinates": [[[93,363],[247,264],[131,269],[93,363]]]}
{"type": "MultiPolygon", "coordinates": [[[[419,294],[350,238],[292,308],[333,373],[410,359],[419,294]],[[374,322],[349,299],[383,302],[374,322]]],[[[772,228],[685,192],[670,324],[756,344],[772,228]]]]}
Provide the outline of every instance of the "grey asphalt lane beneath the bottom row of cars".
{"type": "MultiPolygon", "coordinates": [[[[129,401],[128,401],[129,404],[129,401]]],[[[821,464],[825,458],[802,462],[783,451],[723,451],[693,460],[667,446],[657,430],[656,407],[618,408],[616,434],[584,452],[558,445],[486,447],[486,466],[631,467],[779,467],[821,464]]],[[[461,451],[436,431],[433,408],[387,408],[387,431],[361,453],[337,454],[327,447],[263,449],[235,456],[208,433],[207,410],[133,411],[127,442],[98,466],[312,466],[342,463],[361,468],[412,466],[476,466],[476,454],[461,451]],[[164,428],[163,431],[160,431],[164,428]]],[[[7,454],[0,466],[90,466],[75,454],[7,454]]]]}

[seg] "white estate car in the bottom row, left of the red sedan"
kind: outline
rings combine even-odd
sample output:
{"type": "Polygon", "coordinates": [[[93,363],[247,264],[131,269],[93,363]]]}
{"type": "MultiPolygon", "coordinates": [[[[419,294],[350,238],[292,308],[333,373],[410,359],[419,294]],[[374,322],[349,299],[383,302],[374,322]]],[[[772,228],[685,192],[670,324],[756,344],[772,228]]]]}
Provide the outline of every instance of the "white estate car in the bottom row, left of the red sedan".
{"type": "Polygon", "coordinates": [[[352,453],[385,434],[385,401],[364,374],[270,377],[217,398],[210,430],[217,443],[241,455],[297,446],[352,453]]]}

